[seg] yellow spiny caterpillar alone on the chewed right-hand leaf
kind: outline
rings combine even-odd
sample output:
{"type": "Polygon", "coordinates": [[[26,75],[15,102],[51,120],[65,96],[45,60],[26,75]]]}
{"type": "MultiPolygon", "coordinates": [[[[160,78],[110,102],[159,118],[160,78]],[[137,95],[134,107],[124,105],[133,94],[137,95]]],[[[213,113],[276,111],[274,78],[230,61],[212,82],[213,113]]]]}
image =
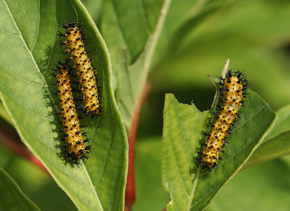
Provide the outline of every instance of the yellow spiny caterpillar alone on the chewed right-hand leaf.
{"type": "Polygon", "coordinates": [[[232,70],[228,69],[225,78],[221,76],[219,79],[219,85],[222,86],[219,89],[220,93],[222,93],[220,100],[223,105],[218,106],[221,110],[220,114],[213,113],[217,119],[215,123],[209,123],[213,128],[210,133],[204,134],[209,136],[209,139],[207,143],[202,143],[205,146],[205,150],[198,152],[201,154],[201,158],[197,158],[200,163],[203,163],[202,169],[208,167],[209,171],[218,166],[218,159],[222,159],[218,154],[224,152],[221,148],[227,143],[225,138],[230,134],[229,128],[234,126],[233,121],[237,116],[240,116],[238,111],[241,106],[244,107],[242,98],[246,96],[245,91],[248,88],[248,80],[240,71],[233,73],[232,70]]]}

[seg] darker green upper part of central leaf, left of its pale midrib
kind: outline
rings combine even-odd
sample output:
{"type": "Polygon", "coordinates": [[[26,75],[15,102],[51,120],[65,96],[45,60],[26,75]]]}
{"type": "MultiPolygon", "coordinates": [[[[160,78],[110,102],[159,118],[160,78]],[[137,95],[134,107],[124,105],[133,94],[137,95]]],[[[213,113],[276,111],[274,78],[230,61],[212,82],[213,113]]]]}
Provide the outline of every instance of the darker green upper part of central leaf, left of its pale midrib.
{"type": "MultiPolygon", "coordinates": [[[[158,18],[160,18],[163,2],[168,6],[171,1],[111,0],[104,2],[101,28],[115,62],[122,61],[117,57],[118,51],[122,48],[127,49],[123,53],[127,53],[129,64],[134,63],[142,54],[150,34],[155,30],[158,18]]],[[[166,12],[167,10],[164,11],[163,16],[166,16],[166,12]]],[[[114,61],[113,64],[115,64],[114,61]]]]}

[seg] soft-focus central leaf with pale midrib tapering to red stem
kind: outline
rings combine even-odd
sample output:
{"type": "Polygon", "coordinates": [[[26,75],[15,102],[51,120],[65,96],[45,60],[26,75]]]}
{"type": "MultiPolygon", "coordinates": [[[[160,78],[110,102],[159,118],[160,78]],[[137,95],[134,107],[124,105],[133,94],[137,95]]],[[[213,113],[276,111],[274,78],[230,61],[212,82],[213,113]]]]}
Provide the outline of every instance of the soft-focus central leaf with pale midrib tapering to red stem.
{"type": "Polygon", "coordinates": [[[127,128],[140,105],[152,62],[167,55],[168,45],[178,38],[180,29],[187,33],[224,2],[104,2],[101,28],[112,59],[116,99],[127,128]]]}

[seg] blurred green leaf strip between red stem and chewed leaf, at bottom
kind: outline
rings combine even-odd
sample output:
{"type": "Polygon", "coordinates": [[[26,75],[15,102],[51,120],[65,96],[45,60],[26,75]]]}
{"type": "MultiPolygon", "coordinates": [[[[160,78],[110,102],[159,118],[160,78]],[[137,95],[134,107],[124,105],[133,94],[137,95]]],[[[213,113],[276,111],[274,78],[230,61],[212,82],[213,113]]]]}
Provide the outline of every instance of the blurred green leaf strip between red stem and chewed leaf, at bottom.
{"type": "Polygon", "coordinates": [[[161,145],[161,136],[136,142],[136,201],[133,210],[162,210],[170,200],[161,185],[161,145]]]}

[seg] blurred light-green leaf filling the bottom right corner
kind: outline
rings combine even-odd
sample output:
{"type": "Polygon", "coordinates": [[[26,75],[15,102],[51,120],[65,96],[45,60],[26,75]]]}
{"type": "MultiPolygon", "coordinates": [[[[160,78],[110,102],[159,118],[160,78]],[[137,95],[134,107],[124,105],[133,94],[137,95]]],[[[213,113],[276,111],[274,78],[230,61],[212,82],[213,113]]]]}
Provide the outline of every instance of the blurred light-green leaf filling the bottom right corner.
{"type": "Polygon", "coordinates": [[[289,163],[288,155],[243,169],[222,188],[206,211],[288,210],[289,163]]]}

